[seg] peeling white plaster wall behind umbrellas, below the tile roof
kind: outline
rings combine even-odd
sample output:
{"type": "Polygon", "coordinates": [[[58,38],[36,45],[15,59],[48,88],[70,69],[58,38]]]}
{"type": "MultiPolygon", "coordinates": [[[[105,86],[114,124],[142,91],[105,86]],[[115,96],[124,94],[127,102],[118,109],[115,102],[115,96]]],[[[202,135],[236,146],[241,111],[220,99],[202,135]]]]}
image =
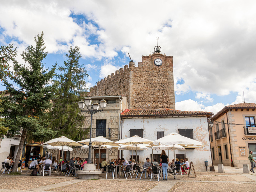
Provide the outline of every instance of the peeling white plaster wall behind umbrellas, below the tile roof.
{"type": "MultiPolygon", "coordinates": [[[[131,118],[123,119],[123,139],[130,137],[130,129],[143,129],[143,138],[157,140],[156,132],[164,131],[164,136],[171,132],[179,133],[178,129],[193,129],[194,139],[203,143],[202,148],[186,150],[188,161],[193,161],[194,167],[198,171],[206,171],[204,161],[207,159],[209,166],[211,162],[211,151],[207,117],[176,117],[176,118],[131,118]]],[[[168,155],[168,150],[165,151],[168,155]]],[[[137,151],[140,161],[150,158],[151,149],[137,151]]],[[[161,150],[154,150],[154,154],[161,154],[161,150]]],[[[175,150],[175,154],[184,154],[183,150],[175,150]]],[[[129,160],[132,151],[123,151],[124,159],[129,160]]],[[[133,151],[133,155],[136,155],[133,151]]],[[[170,150],[169,160],[173,159],[173,150],[170,150]]]]}

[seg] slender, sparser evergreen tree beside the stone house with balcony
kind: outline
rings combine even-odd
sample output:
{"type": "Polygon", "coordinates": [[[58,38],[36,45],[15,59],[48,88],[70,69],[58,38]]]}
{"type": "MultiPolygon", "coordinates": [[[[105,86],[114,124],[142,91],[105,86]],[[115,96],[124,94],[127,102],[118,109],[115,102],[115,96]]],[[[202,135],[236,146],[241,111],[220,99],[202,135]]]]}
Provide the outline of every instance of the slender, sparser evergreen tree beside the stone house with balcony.
{"type": "Polygon", "coordinates": [[[86,134],[84,129],[85,116],[81,114],[77,102],[84,98],[81,93],[86,93],[85,77],[88,76],[84,69],[84,64],[79,64],[81,54],[79,47],[75,46],[68,51],[67,61],[63,67],[58,66],[60,75],[57,75],[59,83],[54,100],[53,108],[50,112],[51,127],[57,131],[58,136],[66,136],[72,140],[81,140],[86,134]]]}

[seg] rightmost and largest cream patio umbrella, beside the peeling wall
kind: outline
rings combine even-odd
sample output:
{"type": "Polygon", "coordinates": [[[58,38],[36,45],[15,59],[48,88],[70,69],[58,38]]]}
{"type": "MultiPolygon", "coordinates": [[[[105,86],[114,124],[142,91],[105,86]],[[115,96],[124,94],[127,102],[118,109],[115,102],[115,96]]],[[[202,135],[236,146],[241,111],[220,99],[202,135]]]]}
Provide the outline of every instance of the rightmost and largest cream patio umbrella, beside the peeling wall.
{"type": "MultiPolygon", "coordinates": [[[[178,133],[170,133],[153,142],[153,145],[181,145],[183,147],[202,147],[203,144],[199,141],[184,137],[178,133]]],[[[173,150],[173,159],[175,159],[175,148],[173,150]]]]}

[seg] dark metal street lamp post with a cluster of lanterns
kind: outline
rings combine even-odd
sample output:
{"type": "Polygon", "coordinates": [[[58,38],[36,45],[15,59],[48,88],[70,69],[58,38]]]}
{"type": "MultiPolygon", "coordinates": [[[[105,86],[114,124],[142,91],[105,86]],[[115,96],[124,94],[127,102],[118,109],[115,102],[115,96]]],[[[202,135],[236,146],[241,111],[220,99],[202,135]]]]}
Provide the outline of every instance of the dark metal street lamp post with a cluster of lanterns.
{"type": "Polygon", "coordinates": [[[88,164],[92,163],[92,155],[91,155],[91,151],[92,151],[92,115],[95,113],[98,113],[100,111],[103,111],[103,109],[106,108],[106,105],[107,105],[107,101],[105,101],[104,98],[100,101],[100,105],[97,102],[92,104],[92,99],[90,97],[85,98],[84,101],[81,100],[78,102],[78,106],[81,109],[81,112],[91,114],[89,154],[88,154],[88,160],[87,160],[88,164]],[[83,110],[85,108],[85,106],[87,107],[87,110],[83,110]],[[89,106],[91,106],[92,108],[89,109],[89,106]],[[99,108],[101,108],[101,110],[99,110],[99,108]]]}

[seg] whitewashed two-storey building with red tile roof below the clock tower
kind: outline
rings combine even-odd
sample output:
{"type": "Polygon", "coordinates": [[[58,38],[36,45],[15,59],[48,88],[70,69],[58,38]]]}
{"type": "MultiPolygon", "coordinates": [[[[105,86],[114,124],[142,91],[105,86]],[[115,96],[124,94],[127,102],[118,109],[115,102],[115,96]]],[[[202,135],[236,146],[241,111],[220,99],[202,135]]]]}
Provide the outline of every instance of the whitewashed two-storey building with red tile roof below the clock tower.
{"type": "MultiPolygon", "coordinates": [[[[191,139],[202,142],[203,147],[196,149],[186,149],[186,157],[192,161],[196,170],[206,171],[205,159],[209,165],[211,162],[211,148],[208,133],[207,119],[212,116],[212,112],[201,111],[179,111],[173,109],[126,109],[121,113],[121,139],[138,135],[140,137],[157,140],[171,132],[179,133],[191,139]]],[[[160,161],[162,150],[153,150],[153,158],[160,161]]],[[[165,150],[168,156],[168,150],[165,150]]],[[[129,160],[132,151],[123,151],[124,159],[129,160]]],[[[138,161],[144,162],[151,157],[152,150],[138,150],[138,161]]],[[[175,158],[183,158],[184,150],[175,150],[175,158]]],[[[132,158],[136,159],[133,151],[132,158]]],[[[169,151],[169,161],[173,159],[173,150],[169,151]]]]}

